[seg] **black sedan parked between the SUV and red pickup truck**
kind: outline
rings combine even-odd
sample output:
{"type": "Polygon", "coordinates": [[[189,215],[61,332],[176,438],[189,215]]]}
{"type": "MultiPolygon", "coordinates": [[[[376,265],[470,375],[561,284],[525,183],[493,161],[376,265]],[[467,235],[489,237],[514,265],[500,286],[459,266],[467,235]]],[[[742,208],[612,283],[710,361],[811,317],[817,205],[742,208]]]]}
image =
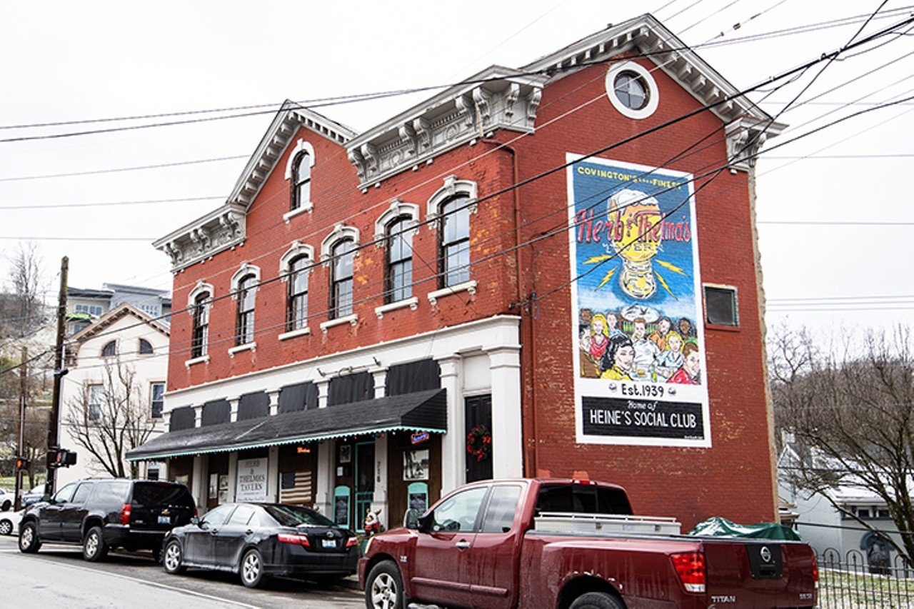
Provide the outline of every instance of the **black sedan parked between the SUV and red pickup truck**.
{"type": "Polygon", "coordinates": [[[279,503],[229,503],[172,529],[163,542],[165,572],[187,567],[239,573],[249,588],[272,575],[329,580],[356,572],[358,540],[313,509],[279,503]]]}

